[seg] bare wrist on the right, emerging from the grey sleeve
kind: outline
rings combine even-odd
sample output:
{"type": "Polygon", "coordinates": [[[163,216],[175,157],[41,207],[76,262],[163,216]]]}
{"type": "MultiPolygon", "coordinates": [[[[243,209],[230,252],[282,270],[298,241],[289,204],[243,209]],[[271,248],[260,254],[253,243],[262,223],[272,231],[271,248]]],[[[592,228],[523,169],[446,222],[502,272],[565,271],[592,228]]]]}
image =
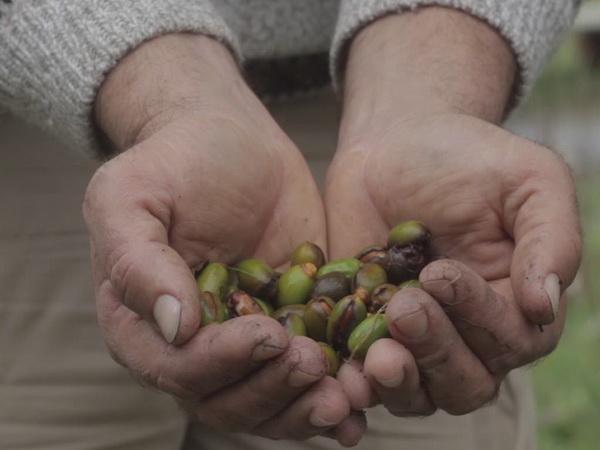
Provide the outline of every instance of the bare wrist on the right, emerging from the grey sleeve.
{"type": "Polygon", "coordinates": [[[341,136],[448,112],[499,123],[515,77],[508,43],[466,13],[426,7],[383,17],[350,46],[341,136]]]}

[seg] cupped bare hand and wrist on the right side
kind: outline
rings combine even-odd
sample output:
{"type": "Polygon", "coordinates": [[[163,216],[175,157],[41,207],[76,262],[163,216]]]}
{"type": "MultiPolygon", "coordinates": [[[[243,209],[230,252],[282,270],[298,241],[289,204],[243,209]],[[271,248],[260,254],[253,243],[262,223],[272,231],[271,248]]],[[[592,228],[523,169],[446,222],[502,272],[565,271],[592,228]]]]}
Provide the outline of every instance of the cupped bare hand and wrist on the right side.
{"type": "Polygon", "coordinates": [[[473,411],[510,370],[558,343],[559,299],[581,251],[571,174],[550,150],[497,126],[514,58],[463,13],[380,19],[355,39],[347,67],[326,182],[331,257],[385,242],[393,225],[417,219],[452,260],[426,267],[422,290],[394,297],[394,339],[340,379],[355,408],[379,399],[397,415],[473,411]]]}

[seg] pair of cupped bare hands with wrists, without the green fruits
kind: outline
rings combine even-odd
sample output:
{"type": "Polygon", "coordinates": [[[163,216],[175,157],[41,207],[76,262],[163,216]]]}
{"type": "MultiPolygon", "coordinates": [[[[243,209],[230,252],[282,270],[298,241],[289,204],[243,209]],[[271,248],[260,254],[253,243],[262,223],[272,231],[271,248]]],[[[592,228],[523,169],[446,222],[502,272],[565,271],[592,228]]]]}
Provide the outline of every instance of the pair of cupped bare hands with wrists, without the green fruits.
{"type": "Polygon", "coordinates": [[[544,287],[555,275],[555,297],[564,292],[581,247],[567,166],[498,126],[515,73],[506,43],[464,13],[373,22],[349,49],[323,205],[220,44],[171,35],[133,51],[97,99],[117,156],[84,204],[114,358],[208,425],[277,439],[353,445],[365,431],[356,410],[374,403],[405,416],[492,400],[511,369],[558,342],[565,302],[555,313],[544,287]],[[392,338],[337,380],[316,343],[288,339],[272,319],[198,331],[190,269],[203,259],[279,266],[306,240],[348,257],[408,219],[427,223],[452,260],[394,297],[392,338]],[[157,308],[165,295],[170,309],[157,308]]]}

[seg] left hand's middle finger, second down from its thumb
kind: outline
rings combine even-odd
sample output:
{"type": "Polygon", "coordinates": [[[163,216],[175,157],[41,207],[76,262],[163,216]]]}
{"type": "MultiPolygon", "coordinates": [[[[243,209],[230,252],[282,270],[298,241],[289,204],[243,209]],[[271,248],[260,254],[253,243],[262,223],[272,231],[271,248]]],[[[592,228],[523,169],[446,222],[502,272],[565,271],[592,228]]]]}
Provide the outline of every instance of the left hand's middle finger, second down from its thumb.
{"type": "Polygon", "coordinates": [[[282,355],[202,400],[196,415],[217,429],[247,432],[283,410],[326,372],[321,347],[311,339],[296,337],[282,355]]]}

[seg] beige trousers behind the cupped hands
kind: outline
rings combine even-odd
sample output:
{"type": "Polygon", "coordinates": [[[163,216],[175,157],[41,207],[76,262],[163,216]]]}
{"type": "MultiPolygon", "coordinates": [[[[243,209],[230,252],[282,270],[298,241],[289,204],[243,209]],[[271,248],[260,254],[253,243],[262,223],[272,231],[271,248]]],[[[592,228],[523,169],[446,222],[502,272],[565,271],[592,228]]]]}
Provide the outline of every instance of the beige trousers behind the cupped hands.
{"type": "MultiPolygon", "coordinates": [[[[272,108],[322,179],[335,143],[331,96],[272,108]]],[[[81,218],[96,168],[34,127],[0,115],[0,449],[320,449],[326,439],[273,442],[192,425],[166,395],[142,388],[108,356],[95,319],[81,218]],[[185,439],[185,444],[183,444],[185,439]]],[[[400,419],[368,412],[358,448],[531,450],[525,372],[476,413],[400,419]]]]}

